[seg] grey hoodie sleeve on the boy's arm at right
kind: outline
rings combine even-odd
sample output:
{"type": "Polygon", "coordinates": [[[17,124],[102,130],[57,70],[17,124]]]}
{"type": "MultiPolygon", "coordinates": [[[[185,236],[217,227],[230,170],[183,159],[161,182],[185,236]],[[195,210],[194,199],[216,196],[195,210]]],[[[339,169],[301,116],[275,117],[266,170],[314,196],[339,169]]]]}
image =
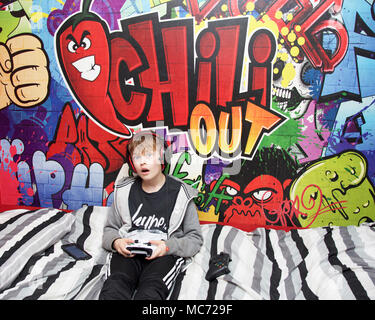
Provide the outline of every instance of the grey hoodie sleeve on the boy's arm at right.
{"type": "Polygon", "coordinates": [[[197,207],[194,201],[190,201],[181,227],[166,241],[168,254],[184,258],[192,257],[199,252],[202,244],[203,236],[197,207]]]}

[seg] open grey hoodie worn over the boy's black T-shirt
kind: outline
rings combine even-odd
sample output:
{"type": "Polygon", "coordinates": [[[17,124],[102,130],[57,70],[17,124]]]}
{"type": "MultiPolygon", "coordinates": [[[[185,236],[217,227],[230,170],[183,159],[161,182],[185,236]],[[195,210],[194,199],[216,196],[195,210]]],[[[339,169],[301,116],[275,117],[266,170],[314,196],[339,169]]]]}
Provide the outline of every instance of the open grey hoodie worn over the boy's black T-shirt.
{"type": "MultiPolygon", "coordinates": [[[[170,177],[176,179],[173,176],[170,177]]],[[[126,177],[115,185],[114,200],[103,234],[103,247],[108,251],[115,252],[112,247],[113,241],[122,237],[126,238],[126,233],[132,226],[128,196],[135,179],[126,177]]],[[[167,254],[188,258],[198,253],[203,244],[203,237],[197,209],[193,202],[197,191],[180,182],[180,190],[169,220],[166,245],[169,248],[167,254]]]]}

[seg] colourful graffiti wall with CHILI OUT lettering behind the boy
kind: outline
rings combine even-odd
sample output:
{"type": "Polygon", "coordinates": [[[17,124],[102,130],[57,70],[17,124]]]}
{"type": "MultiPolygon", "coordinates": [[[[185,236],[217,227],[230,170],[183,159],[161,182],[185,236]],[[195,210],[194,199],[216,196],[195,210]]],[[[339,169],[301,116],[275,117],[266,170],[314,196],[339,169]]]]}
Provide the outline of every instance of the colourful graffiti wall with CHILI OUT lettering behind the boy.
{"type": "Polygon", "coordinates": [[[374,19],[372,0],[0,0],[0,203],[109,206],[152,128],[201,221],[372,221],[374,19]]]}

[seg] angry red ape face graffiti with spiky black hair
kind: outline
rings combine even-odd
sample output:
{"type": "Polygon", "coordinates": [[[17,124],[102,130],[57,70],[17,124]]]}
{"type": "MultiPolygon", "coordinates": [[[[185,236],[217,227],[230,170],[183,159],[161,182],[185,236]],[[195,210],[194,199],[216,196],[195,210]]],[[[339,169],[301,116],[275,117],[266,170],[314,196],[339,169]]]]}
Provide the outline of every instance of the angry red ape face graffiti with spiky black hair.
{"type": "MultiPolygon", "coordinates": [[[[245,231],[259,226],[299,227],[287,199],[296,169],[297,164],[284,150],[264,148],[252,161],[243,162],[239,174],[212,181],[205,205],[216,198],[218,221],[245,231]]],[[[206,172],[210,170],[205,168],[206,172]]]]}

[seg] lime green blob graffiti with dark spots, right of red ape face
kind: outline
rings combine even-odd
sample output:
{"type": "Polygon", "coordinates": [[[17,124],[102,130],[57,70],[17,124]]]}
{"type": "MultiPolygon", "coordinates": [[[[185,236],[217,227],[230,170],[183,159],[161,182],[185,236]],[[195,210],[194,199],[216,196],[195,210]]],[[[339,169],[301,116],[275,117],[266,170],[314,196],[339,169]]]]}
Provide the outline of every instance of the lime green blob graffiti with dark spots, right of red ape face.
{"type": "Polygon", "coordinates": [[[375,218],[375,191],[366,158],[346,151],[310,164],[293,182],[290,199],[303,227],[359,225],[375,218]]]}

